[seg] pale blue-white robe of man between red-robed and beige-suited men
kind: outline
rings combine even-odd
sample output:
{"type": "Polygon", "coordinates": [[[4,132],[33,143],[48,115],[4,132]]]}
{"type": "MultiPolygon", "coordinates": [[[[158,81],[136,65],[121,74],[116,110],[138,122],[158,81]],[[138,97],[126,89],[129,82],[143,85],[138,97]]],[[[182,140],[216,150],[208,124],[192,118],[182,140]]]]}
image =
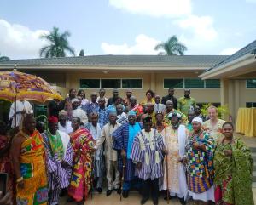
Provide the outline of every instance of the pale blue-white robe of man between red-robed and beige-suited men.
{"type": "MultiPolygon", "coordinates": [[[[101,137],[102,124],[97,123],[96,127],[92,123],[87,123],[85,128],[90,131],[94,140],[98,140],[101,137]]],[[[102,177],[105,171],[105,157],[103,155],[104,146],[102,145],[96,150],[93,162],[93,177],[102,177]]]]}

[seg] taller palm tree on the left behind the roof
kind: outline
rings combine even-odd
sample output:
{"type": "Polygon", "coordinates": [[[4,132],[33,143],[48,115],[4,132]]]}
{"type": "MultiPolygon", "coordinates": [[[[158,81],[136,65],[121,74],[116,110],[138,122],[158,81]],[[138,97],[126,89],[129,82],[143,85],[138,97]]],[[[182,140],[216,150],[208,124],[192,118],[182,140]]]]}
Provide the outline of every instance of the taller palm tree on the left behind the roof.
{"type": "Polygon", "coordinates": [[[67,37],[70,37],[70,35],[71,34],[68,31],[60,33],[59,28],[54,26],[53,31],[51,31],[49,34],[44,34],[41,36],[42,39],[49,41],[49,45],[40,49],[40,57],[65,57],[66,51],[74,56],[74,49],[69,46],[67,41],[67,37]]]}

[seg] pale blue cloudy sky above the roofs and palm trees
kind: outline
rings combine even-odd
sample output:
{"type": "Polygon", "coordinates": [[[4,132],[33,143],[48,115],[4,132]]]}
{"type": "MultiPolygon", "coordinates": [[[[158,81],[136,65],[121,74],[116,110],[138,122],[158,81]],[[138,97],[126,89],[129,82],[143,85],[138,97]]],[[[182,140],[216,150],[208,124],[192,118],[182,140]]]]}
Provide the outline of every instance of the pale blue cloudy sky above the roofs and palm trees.
{"type": "Polygon", "coordinates": [[[234,54],[256,40],[256,0],[2,0],[0,55],[38,58],[53,26],[79,54],[157,54],[176,35],[185,54],[234,54]]]}

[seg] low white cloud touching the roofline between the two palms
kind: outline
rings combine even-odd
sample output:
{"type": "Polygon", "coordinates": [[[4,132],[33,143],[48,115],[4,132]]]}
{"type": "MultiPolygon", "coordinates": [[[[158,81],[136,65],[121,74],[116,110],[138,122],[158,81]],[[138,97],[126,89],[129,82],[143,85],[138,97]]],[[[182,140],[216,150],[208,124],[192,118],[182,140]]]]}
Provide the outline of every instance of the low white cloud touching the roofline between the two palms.
{"type": "Polygon", "coordinates": [[[157,51],[154,50],[157,43],[159,43],[159,41],[153,37],[139,34],[135,38],[134,45],[129,46],[127,43],[102,43],[102,50],[104,54],[157,54],[157,51]]]}

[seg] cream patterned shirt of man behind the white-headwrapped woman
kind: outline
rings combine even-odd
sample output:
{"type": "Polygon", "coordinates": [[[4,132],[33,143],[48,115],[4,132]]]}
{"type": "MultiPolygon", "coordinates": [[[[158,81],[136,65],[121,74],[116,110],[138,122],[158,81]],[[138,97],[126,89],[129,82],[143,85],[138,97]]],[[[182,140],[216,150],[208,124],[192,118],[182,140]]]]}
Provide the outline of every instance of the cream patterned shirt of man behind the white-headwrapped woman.
{"type": "Polygon", "coordinates": [[[211,120],[207,120],[206,122],[203,122],[202,128],[207,131],[208,134],[215,140],[215,142],[218,141],[219,138],[222,138],[222,125],[224,124],[224,120],[218,119],[218,122],[214,125],[212,125],[211,120]]]}

